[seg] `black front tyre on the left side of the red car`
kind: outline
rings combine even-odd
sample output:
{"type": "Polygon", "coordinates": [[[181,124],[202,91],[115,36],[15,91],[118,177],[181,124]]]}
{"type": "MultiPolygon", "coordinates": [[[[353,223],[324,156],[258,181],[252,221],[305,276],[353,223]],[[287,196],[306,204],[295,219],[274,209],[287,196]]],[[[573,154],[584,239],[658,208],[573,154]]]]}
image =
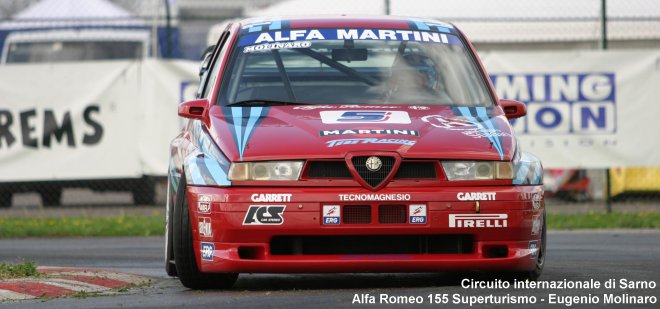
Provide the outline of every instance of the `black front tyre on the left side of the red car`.
{"type": "Polygon", "coordinates": [[[193,251],[192,227],[188,212],[188,197],[186,196],[185,177],[181,177],[177,188],[176,203],[174,207],[173,247],[176,272],[183,286],[196,289],[227,289],[231,288],[238,274],[213,273],[207,274],[199,271],[195,252],[193,251]]]}

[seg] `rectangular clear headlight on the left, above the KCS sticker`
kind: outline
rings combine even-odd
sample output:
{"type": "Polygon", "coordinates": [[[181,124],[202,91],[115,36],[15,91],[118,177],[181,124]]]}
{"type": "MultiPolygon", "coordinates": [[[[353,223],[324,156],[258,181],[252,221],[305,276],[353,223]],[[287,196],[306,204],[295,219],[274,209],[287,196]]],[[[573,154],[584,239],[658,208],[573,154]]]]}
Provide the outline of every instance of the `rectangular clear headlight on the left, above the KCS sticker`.
{"type": "Polygon", "coordinates": [[[229,180],[298,180],[303,161],[232,163],[229,180]]]}

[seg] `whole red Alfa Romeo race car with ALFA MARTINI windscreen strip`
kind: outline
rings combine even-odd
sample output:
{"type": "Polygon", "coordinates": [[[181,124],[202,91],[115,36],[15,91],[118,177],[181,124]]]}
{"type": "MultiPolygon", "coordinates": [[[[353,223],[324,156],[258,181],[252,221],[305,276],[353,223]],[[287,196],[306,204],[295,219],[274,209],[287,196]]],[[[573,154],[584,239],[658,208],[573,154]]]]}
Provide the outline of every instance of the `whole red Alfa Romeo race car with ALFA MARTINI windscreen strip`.
{"type": "Polygon", "coordinates": [[[171,145],[166,270],[510,272],[545,257],[542,166],[465,36],[429,19],[231,24],[171,145]]]}

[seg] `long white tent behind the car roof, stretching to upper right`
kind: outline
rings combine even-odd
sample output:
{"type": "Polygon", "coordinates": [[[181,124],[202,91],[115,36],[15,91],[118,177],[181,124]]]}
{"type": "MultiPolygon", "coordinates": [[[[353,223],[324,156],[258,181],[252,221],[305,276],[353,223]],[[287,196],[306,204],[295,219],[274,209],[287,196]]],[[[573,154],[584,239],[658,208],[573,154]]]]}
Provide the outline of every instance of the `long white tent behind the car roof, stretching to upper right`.
{"type": "MultiPolygon", "coordinates": [[[[384,0],[288,0],[248,16],[384,14],[384,0]]],[[[601,36],[600,0],[390,0],[390,13],[454,22],[474,42],[580,42],[601,36]]],[[[609,40],[660,40],[660,1],[608,0],[609,40]]]]}

